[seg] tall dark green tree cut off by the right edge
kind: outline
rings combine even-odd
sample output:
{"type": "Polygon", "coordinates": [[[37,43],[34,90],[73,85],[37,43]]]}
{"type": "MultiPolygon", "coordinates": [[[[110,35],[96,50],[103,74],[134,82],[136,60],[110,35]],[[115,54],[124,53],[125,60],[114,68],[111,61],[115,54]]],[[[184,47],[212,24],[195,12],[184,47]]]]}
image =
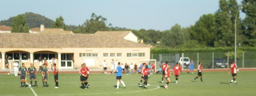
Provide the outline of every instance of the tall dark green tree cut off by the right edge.
{"type": "Polygon", "coordinates": [[[243,0],[242,12],[246,14],[243,20],[243,34],[247,37],[245,44],[249,46],[256,46],[256,1],[243,0]]]}

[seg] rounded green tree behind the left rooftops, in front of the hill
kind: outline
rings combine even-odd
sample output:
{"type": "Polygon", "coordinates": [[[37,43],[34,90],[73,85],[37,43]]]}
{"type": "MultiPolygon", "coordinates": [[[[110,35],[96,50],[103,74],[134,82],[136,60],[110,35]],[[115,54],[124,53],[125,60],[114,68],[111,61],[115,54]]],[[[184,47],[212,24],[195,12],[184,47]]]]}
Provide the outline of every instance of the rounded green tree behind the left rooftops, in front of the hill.
{"type": "Polygon", "coordinates": [[[27,25],[24,16],[18,15],[12,22],[12,33],[29,33],[29,26],[27,25]]]}

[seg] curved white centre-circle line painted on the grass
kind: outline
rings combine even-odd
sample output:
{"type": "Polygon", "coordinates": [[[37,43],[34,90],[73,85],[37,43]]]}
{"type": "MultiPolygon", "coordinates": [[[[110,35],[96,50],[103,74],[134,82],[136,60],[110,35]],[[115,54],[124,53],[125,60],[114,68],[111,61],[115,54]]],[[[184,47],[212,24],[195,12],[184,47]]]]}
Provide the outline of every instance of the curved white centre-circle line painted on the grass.
{"type": "MultiPolygon", "coordinates": [[[[138,85],[138,84],[132,84],[132,85],[138,85]]],[[[155,86],[155,85],[151,85],[155,86]]],[[[138,92],[145,92],[145,91],[152,91],[159,89],[160,86],[155,86],[154,89],[148,89],[148,90],[140,90],[140,91],[129,91],[129,92],[116,92],[116,93],[94,93],[94,94],[50,94],[50,95],[41,95],[41,96],[74,96],[74,95],[100,95],[100,94],[119,94],[119,93],[138,93],[138,92]]]]}

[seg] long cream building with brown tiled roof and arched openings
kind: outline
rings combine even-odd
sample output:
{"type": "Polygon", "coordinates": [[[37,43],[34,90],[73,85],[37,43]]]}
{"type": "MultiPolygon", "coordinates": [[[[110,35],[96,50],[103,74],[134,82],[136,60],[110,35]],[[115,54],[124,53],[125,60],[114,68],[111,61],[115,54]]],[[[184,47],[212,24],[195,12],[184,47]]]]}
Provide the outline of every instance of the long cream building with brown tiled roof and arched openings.
{"type": "MultiPolygon", "coordinates": [[[[39,56],[48,63],[56,58],[58,68],[80,68],[81,63],[86,63],[93,69],[102,68],[99,65],[103,60],[110,68],[112,59],[128,64],[150,59],[150,47],[137,43],[138,38],[132,31],[74,34],[60,29],[46,30],[33,28],[30,31],[38,33],[0,33],[0,67],[4,68],[6,55],[10,64],[17,61],[28,67],[33,63],[36,68],[39,68],[39,56]]],[[[48,67],[51,68],[50,63],[48,67]]]]}

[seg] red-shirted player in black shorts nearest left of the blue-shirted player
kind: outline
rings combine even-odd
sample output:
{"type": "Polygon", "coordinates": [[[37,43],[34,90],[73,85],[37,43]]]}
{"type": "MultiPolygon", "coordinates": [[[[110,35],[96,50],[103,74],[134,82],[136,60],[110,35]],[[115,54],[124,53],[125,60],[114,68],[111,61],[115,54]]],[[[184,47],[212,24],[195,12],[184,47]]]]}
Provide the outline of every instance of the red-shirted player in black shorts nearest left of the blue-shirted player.
{"type": "Polygon", "coordinates": [[[81,65],[81,68],[80,68],[80,81],[82,82],[82,86],[81,88],[84,89],[85,88],[85,77],[87,77],[87,72],[85,70],[85,63],[83,63],[81,65]]]}

